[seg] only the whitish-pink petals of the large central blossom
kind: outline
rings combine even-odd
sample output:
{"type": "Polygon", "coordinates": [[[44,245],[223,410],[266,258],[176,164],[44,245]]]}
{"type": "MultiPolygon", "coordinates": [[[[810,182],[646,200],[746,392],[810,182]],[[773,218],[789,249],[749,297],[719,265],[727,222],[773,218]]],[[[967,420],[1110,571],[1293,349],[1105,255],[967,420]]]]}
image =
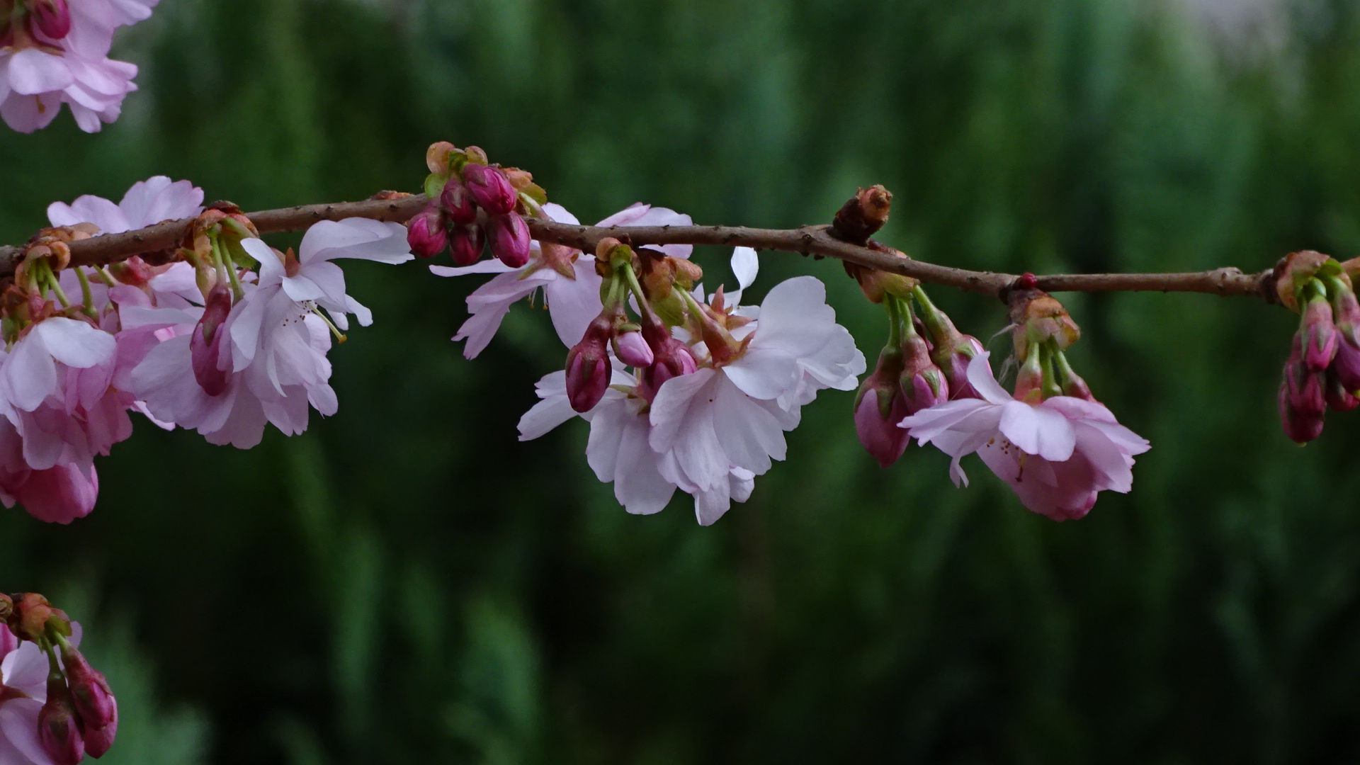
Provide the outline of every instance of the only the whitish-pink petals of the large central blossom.
{"type": "MultiPolygon", "coordinates": [[[[753,271],[747,275],[737,257],[734,267],[749,284],[753,271]]],[[[733,358],[715,365],[696,346],[698,354],[685,351],[691,363],[654,388],[645,382],[647,370],[616,370],[600,402],[579,415],[590,422],[590,467],[613,482],[628,512],[661,510],[679,487],[694,497],[699,523],[714,523],[732,501],[749,498],[771,460],[785,457],[783,432],[798,425],[801,406],[817,389],[854,389],[864,355],[835,323],[819,280],[789,279],[770,290],[759,312],[732,310],[758,313],[734,332],[741,350],[733,358]],[[695,366],[696,357],[703,366],[695,366]]],[[[537,392],[543,400],[520,421],[521,440],[577,415],[564,372],[544,377],[537,392]]]]}

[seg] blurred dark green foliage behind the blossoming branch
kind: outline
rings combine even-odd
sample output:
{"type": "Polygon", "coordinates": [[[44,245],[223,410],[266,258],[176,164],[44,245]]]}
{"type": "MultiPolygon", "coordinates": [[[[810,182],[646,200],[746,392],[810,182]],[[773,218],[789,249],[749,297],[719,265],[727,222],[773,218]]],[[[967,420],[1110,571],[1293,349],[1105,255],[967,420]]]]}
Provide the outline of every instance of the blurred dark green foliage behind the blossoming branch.
{"type": "MultiPolygon", "coordinates": [[[[586,221],[796,226],[883,182],[884,241],[970,268],[1360,255],[1346,0],[163,0],[116,54],[117,124],[0,132],[0,241],[152,174],[249,210],[415,191],[447,139],[586,221]]],[[[364,265],[336,417],[249,452],[139,421],[88,519],[0,513],[4,589],[61,598],[120,694],[102,762],[1360,758],[1360,418],[1280,433],[1282,309],[1066,298],[1077,369],[1153,444],[1080,523],[976,460],[966,490],[934,451],[879,470],[827,392],[699,528],[684,497],[627,516],[581,422],[517,442],[563,357],[543,312],[466,362],[476,279],[364,265]]],[[[824,278],[872,359],[839,264],[762,265],[824,278]]]]}

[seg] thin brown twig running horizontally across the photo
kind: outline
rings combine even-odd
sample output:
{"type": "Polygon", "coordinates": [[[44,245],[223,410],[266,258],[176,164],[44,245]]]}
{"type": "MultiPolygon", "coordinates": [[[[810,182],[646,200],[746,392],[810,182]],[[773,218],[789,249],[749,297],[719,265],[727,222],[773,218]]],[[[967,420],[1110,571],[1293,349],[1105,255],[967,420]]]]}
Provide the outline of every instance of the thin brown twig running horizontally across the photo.
{"type": "MultiPolygon", "coordinates": [[[[423,195],[404,199],[371,199],[330,204],[306,204],[248,214],[260,233],[303,230],[318,221],[373,218],[403,223],[426,206],[423,195]]],[[[71,263],[99,265],[125,260],[133,255],[170,250],[178,246],[193,222],[190,218],[165,221],[146,229],[105,234],[71,242],[71,263]]],[[[627,237],[634,245],[719,245],[749,246],[834,257],[868,268],[913,276],[922,282],[956,287],[964,291],[997,295],[1019,276],[994,271],[968,271],[913,260],[879,242],[860,246],[840,241],[830,226],[801,229],[751,229],[745,226],[575,226],[541,218],[528,221],[533,238],[593,252],[604,237],[627,237]]],[[[14,274],[23,248],[0,246],[0,278],[14,274]]],[[[1244,274],[1227,267],[1187,274],[1054,274],[1039,276],[1036,286],[1050,293],[1208,293],[1216,295],[1257,295],[1273,301],[1270,271],[1244,274]]]]}

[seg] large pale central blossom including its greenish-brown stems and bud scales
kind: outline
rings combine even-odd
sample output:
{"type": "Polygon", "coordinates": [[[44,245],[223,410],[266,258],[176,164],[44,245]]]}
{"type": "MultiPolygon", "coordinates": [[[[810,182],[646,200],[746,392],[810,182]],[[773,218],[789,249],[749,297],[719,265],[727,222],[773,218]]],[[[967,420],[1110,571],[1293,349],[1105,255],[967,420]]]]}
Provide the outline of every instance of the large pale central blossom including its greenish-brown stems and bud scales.
{"type": "MultiPolygon", "coordinates": [[[[588,407],[574,400],[573,369],[544,377],[537,389],[543,400],[520,421],[521,440],[579,415],[590,422],[590,467],[615,485],[628,512],[658,512],[680,489],[695,498],[695,516],[709,525],[732,501],[745,501],[755,478],[785,457],[783,432],[798,425],[802,404],[817,389],[854,388],[864,355],[835,323],[826,290],[812,276],[775,286],[759,309],[728,306],[721,290],[704,305],[677,287],[687,297],[687,317],[666,328],[650,308],[661,295],[656,289],[638,294],[632,271],[641,257],[673,256],[634,256],[612,240],[601,242],[597,256],[605,257],[601,253],[608,253],[605,291],[612,302],[601,306],[597,321],[616,333],[632,332],[626,317],[617,319],[627,302],[622,286],[632,284],[653,365],[628,372],[613,359],[609,385],[588,407]]],[[[741,287],[755,278],[751,255],[733,259],[741,287]]],[[[654,270],[675,276],[673,270],[654,270]]],[[[609,346],[596,344],[608,353],[609,346]]]]}

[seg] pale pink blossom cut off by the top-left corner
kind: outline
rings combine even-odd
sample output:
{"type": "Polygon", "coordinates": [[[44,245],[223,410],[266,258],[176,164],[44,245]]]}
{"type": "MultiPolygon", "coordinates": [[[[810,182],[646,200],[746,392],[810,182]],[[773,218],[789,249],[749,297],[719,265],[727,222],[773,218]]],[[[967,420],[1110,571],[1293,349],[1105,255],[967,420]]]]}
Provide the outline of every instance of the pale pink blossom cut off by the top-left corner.
{"type": "Polygon", "coordinates": [[[67,103],[86,132],[116,120],[137,68],[107,57],[113,30],[158,1],[0,0],[0,117],[33,132],[67,103]]]}

